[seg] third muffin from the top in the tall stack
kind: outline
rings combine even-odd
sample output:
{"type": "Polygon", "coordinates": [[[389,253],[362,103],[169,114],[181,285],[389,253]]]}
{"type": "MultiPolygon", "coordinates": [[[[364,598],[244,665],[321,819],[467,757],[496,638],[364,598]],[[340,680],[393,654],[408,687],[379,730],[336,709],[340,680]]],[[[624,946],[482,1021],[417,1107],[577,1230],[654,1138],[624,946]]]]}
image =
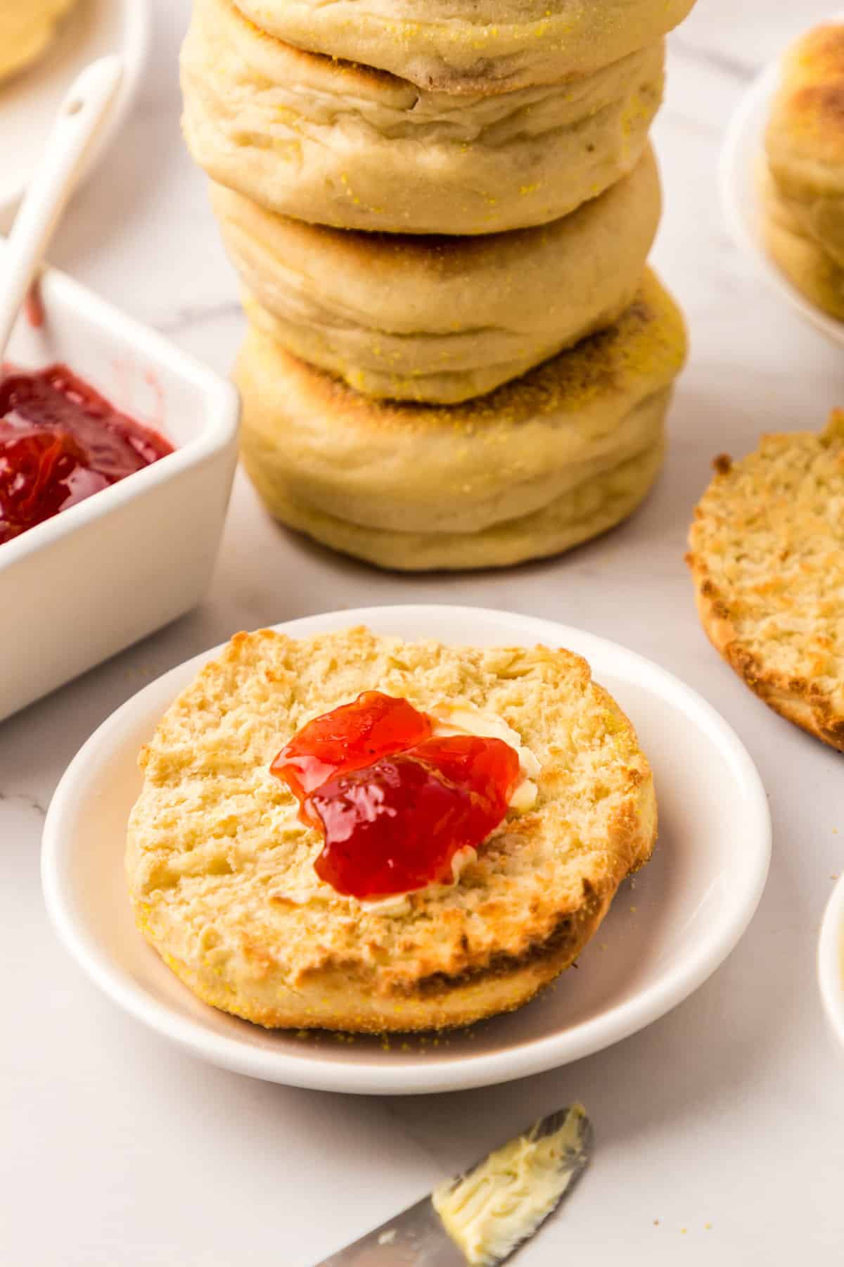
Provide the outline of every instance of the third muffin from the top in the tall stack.
{"type": "Polygon", "coordinates": [[[247,313],[264,333],[364,395],[453,404],[621,315],[642,281],[661,195],[648,151],[572,215],[485,237],[305,224],[220,185],[214,208],[252,296],[247,313]]]}

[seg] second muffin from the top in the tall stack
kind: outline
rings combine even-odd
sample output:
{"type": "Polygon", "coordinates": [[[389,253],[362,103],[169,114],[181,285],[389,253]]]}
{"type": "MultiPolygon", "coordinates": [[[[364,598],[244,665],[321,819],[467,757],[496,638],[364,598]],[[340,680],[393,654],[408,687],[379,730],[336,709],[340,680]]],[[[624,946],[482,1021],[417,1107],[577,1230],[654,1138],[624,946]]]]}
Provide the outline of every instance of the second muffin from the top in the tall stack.
{"type": "Polygon", "coordinates": [[[195,0],[183,128],[219,184],[296,219],[399,233],[499,233],[568,215],[642,158],[659,42],[566,84],[448,96],[263,34],[195,0]]]}

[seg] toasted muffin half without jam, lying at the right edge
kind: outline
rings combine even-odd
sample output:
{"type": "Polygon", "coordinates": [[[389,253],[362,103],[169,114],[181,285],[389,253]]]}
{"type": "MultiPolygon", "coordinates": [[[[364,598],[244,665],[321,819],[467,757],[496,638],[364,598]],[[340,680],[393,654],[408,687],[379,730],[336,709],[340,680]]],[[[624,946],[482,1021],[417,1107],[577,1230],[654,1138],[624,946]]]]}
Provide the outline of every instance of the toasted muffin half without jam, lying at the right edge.
{"type": "Polygon", "coordinates": [[[767,704],[844,751],[844,412],[715,470],[690,535],[704,628],[767,704]]]}

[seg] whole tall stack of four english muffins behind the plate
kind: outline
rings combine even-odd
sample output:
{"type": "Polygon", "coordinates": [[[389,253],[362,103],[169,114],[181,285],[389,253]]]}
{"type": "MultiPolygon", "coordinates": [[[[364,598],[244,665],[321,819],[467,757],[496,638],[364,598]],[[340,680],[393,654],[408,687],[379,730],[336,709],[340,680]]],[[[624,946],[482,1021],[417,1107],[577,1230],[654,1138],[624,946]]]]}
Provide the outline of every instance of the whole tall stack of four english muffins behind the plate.
{"type": "Polygon", "coordinates": [[[555,554],[662,465],[682,317],[645,260],[693,0],[195,0],[185,133],[249,333],[270,511],[388,568],[555,554]]]}

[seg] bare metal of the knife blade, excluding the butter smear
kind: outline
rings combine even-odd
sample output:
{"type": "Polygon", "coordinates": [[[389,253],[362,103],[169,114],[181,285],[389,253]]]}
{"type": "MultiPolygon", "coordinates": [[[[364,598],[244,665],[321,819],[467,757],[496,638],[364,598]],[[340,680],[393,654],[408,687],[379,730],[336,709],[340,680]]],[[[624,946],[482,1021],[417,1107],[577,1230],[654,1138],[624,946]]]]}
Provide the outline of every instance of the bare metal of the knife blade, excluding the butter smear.
{"type": "MultiPolygon", "coordinates": [[[[561,1172],[567,1182],[554,1209],[568,1196],[588,1163],[592,1152],[592,1126],[582,1109],[576,1106],[549,1114],[548,1117],[537,1123],[530,1133],[537,1139],[550,1135],[559,1130],[572,1114],[578,1115],[576,1142],[572,1147],[566,1148],[559,1159],[561,1172]]],[[[486,1161],[485,1157],[454,1182],[472,1175],[486,1161]]],[[[553,1209],[548,1211],[548,1215],[550,1214],[553,1214],[553,1209]]],[[[544,1221],[545,1219],[542,1220],[542,1223],[544,1221]]],[[[539,1230],[539,1226],[542,1224],[533,1226],[524,1239],[530,1239],[539,1230]]],[[[524,1239],[519,1242],[519,1245],[524,1243],[524,1239]]],[[[500,1263],[510,1258],[519,1245],[514,1245],[505,1258],[487,1258],[487,1267],[500,1267],[500,1263]]],[[[426,1196],[416,1205],[402,1210],[395,1219],[382,1223],[380,1228],[347,1245],[345,1249],[325,1258],[316,1267],[466,1267],[466,1263],[467,1259],[462,1251],[452,1240],[437,1214],[431,1197],[426,1196]]]]}

